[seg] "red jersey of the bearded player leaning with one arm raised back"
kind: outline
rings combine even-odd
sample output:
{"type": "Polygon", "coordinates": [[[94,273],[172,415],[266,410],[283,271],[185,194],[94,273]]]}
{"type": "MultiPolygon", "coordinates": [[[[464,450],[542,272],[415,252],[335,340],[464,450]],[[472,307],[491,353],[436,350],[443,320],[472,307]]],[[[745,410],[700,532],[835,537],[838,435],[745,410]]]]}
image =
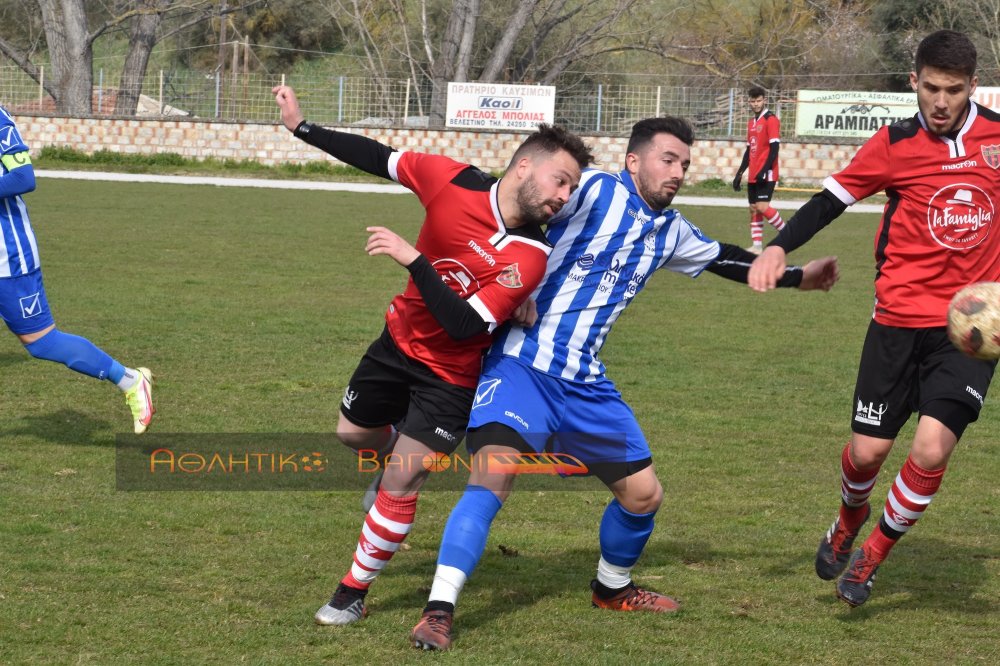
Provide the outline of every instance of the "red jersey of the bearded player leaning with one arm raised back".
{"type": "MultiPolygon", "coordinates": [[[[500,216],[500,181],[439,155],[400,152],[389,158],[393,180],[413,190],[427,210],[415,245],[441,279],[487,322],[506,321],[545,273],[552,246],[541,229],[533,237],[508,231],[500,216]]],[[[475,388],[492,337],[448,335],[427,309],[411,278],[385,315],[404,354],[452,384],[475,388]]],[[[491,326],[491,330],[492,330],[491,326]]]]}

